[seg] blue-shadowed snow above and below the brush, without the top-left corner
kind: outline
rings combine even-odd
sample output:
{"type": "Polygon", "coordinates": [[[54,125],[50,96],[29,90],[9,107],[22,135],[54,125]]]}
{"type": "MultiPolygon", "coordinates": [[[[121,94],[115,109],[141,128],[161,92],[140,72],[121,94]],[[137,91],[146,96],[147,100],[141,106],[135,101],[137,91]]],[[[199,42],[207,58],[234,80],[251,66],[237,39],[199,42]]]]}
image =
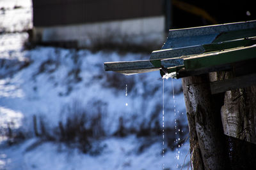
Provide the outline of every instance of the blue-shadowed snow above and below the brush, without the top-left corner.
{"type": "MultiPolygon", "coordinates": [[[[5,51],[1,54],[7,55],[5,51]]],[[[33,134],[33,115],[44,117],[45,122],[48,123],[47,126],[54,127],[67,116],[61,112],[62,108],[73,101],[79,101],[89,113],[95,113],[97,107],[104,110],[104,129],[109,138],[100,141],[101,145],[106,143],[106,149],[97,157],[84,155],[70,148],[59,152],[58,148],[61,144],[54,143],[42,143],[33,150],[25,151],[29,146],[28,143],[31,142],[30,139],[20,145],[4,147],[1,150],[2,157],[6,157],[1,160],[3,167],[8,169],[16,169],[17,166],[20,169],[66,169],[66,167],[70,169],[83,169],[83,167],[87,167],[85,169],[106,169],[106,167],[109,169],[157,169],[156,167],[161,167],[163,164],[165,167],[183,164],[184,157],[188,153],[188,143],[186,147],[181,148],[180,152],[183,155],[179,154],[180,158],[177,161],[174,159],[177,152],[170,152],[170,150],[165,153],[164,159],[162,158],[161,136],[140,154],[136,153],[136,148],[138,150],[138,145],[143,142],[134,136],[122,139],[111,137],[111,134],[118,130],[119,117],[124,118],[127,129],[140,129],[143,122],[149,122],[148,119],[156,110],[155,108],[163,104],[163,80],[159,79],[159,73],[156,72],[129,77],[121,76],[122,78],[115,80],[120,81],[116,82],[118,85],[109,85],[113,77],[108,78],[107,74],[117,73],[105,73],[102,63],[109,60],[134,60],[145,57],[148,56],[131,53],[120,56],[116,52],[91,53],[87,50],[75,52],[50,47],[37,47],[29,51],[15,50],[12,60],[19,60],[21,63],[29,60],[30,64],[15,71],[12,76],[6,74],[0,80],[1,128],[6,128],[7,124],[12,122],[12,128],[23,127],[33,134]],[[74,58],[77,62],[74,62],[76,60],[74,58]],[[47,62],[49,60],[51,62],[47,62]],[[79,78],[74,74],[68,74],[77,68],[81,70],[79,78]],[[121,84],[120,87],[119,84],[121,84]],[[126,84],[127,96],[125,96],[126,84]],[[152,89],[155,89],[154,92],[152,89]],[[97,103],[100,105],[98,106],[97,103]],[[70,152],[74,156],[68,156],[70,152]],[[45,158],[42,159],[42,157],[45,158]],[[48,163],[45,164],[45,162],[48,163]]],[[[8,69],[3,69],[1,73],[8,73],[8,69]]],[[[174,84],[175,90],[180,89],[179,80],[175,80],[174,84]]],[[[174,127],[172,82],[165,81],[164,85],[164,124],[166,127],[174,127]]],[[[183,95],[177,94],[175,99],[176,108],[181,113],[184,111],[183,95]]],[[[161,111],[159,111],[158,120],[161,122],[161,111]]],[[[185,117],[181,117],[181,120],[186,124],[185,117]]]]}

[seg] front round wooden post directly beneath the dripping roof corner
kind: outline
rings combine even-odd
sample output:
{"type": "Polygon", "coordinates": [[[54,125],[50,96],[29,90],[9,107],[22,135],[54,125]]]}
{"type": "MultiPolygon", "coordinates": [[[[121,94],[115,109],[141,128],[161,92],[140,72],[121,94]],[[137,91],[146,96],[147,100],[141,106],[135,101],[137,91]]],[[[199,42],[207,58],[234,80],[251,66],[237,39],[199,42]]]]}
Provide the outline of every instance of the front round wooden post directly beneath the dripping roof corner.
{"type": "Polygon", "coordinates": [[[190,153],[193,169],[225,169],[227,154],[218,108],[214,107],[209,76],[182,78],[188,115],[190,153]]]}

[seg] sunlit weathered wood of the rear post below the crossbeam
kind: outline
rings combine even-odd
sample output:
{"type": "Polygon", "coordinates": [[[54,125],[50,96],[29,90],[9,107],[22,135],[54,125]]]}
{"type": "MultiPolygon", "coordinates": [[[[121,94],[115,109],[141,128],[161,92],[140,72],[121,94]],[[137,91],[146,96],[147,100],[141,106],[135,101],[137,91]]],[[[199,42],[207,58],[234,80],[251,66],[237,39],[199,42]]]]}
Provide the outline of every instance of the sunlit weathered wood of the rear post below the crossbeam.
{"type": "MultiPolygon", "coordinates": [[[[223,79],[232,77],[234,74],[228,72],[223,79]]],[[[255,101],[256,86],[225,92],[225,100],[221,108],[224,134],[256,144],[255,101]]]]}

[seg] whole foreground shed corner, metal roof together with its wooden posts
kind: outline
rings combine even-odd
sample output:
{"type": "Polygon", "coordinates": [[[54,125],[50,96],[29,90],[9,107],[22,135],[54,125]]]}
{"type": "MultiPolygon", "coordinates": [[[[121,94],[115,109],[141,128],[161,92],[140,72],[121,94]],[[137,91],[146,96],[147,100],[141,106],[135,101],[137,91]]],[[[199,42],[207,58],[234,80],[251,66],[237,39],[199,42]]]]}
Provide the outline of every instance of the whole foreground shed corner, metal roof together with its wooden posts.
{"type": "Polygon", "coordinates": [[[150,60],[107,62],[123,74],[182,78],[193,169],[256,169],[256,21],[170,30],[150,60]]]}

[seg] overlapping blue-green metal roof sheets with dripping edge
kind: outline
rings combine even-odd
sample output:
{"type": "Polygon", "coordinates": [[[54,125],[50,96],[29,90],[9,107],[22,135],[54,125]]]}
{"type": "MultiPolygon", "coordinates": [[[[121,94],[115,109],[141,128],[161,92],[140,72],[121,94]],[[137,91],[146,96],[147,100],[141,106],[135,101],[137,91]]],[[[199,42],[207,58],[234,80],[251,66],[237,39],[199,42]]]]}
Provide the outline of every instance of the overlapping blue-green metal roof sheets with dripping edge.
{"type": "Polygon", "coordinates": [[[152,52],[149,60],[106,62],[104,67],[123,74],[176,72],[179,78],[230,69],[251,59],[256,59],[256,20],[170,30],[162,49],[152,52]]]}

